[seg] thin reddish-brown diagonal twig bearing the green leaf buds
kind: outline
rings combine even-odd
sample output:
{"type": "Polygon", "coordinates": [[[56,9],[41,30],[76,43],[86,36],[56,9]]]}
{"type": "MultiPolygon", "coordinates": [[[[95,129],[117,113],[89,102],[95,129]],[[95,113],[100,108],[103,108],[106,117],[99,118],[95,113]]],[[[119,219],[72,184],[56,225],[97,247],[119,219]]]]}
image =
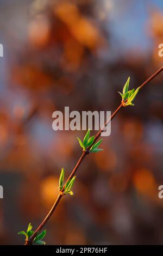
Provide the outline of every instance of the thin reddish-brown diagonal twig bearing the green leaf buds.
{"type": "MultiPolygon", "coordinates": [[[[163,66],[156,71],[151,77],[149,77],[144,83],[141,84],[140,89],[145,86],[147,83],[151,82],[153,80],[154,77],[156,77],[157,75],[159,75],[159,73],[163,70],[163,66]]],[[[101,136],[101,133],[105,130],[105,127],[110,123],[110,121],[112,121],[112,119],[114,119],[114,117],[116,116],[116,114],[120,111],[120,109],[123,107],[123,103],[121,103],[120,106],[117,107],[116,111],[111,115],[111,117],[106,121],[106,123],[104,124],[104,126],[102,127],[101,130],[98,131],[97,135],[95,136],[95,139],[93,141],[93,143],[89,146],[89,148],[87,148],[85,151],[83,151],[82,155],[80,156],[76,166],[74,167],[74,169],[72,170],[70,176],[68,177],[68,179],[66,180],[66,183],[73,178],[73,176],[76,174],[77,169],[79,168],[80,164],[83,162],[83,160],[85,159],[85,156],[87,154],[89,154],[89,150],[92,147],[93,144],[95,144],[95,142],[97,141],[97,139],[101,136]]],[[[66,185],[65,183],[65,185],[66,185]]],[[[61,192],[64,192],[65,190],[65,185],[62,188],[61,192]]],[[[35,239],[37,233],[45,226],[45,224],[47,223],[47,221],[49,220],[49,218],[51,218],[53,212],[55,211],[55,209],[57,208],[57,205],[60,202],[60,199],[64,196],[64,193],[60,193],[58,194],[57,199],[55,200],[55,203],[53,204],[51,210],[48,212],[47,216],[45,217],[45,219],[41,222],[41,224],[39,225],[39,227],[35,230],[34,234],[30,237],[30,239],[28,241],[26,241],[25,245],[32,245],[33,240],[35,239]]]]}

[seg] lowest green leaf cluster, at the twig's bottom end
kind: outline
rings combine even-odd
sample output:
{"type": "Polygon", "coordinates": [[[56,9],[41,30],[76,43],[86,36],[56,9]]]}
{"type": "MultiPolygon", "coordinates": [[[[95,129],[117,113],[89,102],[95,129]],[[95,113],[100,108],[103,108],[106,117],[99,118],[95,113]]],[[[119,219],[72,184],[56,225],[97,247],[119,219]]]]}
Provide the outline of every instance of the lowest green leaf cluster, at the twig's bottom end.
{"type": "MultiPolygon", "coordinates": [[[[32,224],[29,223],[27,231],[20,231],[18,232],[18,235],[24,235],[26,236],[26,241],[28,241],[30,239],[30,236],[32,236],[34,234],[34,231],[32,230],[32,224]]],[[[34,239],[34,243],[36,243],[37,245],[45,245],[46,242],[42,241],[43,237],[45,237],[46,235],[46,229],[43,230],[40,234],[37,233],[35,239],[34,239]]]]}

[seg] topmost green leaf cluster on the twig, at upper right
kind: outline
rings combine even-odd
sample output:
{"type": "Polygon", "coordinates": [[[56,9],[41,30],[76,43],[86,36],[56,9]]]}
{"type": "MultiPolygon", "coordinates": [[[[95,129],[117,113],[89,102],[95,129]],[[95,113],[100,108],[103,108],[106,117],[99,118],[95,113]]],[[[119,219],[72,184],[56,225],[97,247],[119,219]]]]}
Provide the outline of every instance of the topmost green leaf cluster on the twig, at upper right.
{"type": "Polygon", "coordinates": [[[140,90],[140,87],[138,87],[136,90],[135,89],[128,90],[129,82],[130,82],[130,77],[128,77],[126,84],[124,84],[123,93],[118,92],[122,97],[123,106],[129,106],[129,105],[134,106],[133,100],[135,99],[137,93],[140,90]]]}

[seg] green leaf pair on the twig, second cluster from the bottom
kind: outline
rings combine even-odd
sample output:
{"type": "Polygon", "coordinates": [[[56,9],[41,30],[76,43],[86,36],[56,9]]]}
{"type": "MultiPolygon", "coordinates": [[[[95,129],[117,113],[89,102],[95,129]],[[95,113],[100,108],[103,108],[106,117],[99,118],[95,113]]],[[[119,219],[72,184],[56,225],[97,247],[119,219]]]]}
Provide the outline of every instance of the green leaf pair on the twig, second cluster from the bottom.
{"type": "MultiPolygon", "coordinates": [[[[63,188],[64,177],[65,177],[65,170],[62,167],[60,177],[59,177],[59,191],[61,191],[63,188]]],[[[71,194],[71,196],[73,196],[73,192],[72,192],[71,188],[73,187],[75,179],[76,179],[76,176],[73,176],[72,179],[70,179],[66,182],[64,194],[71,194]]]]}

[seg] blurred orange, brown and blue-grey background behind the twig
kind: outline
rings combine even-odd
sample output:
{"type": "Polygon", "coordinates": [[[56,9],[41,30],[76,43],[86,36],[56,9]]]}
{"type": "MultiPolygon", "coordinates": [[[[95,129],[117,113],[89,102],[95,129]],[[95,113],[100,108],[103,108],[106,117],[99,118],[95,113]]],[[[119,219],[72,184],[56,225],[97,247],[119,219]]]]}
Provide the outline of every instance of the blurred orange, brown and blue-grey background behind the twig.
{"type": "MultiPolygon", "coordinates": [[[[76,136],[53,131],[52,113],[114,111],[124,83],[139,86],[163,63],[161,0],[1,0],[0,243],[40,224],[61,167],[80,156],[76,136]]],[[[111,124],[104,151],[86,157],[74,196],[47,223],[47,245],[163,243],[163,74],[111,124]]],[[[95,132],[92,132],[92,135],[95,132]]]]}

